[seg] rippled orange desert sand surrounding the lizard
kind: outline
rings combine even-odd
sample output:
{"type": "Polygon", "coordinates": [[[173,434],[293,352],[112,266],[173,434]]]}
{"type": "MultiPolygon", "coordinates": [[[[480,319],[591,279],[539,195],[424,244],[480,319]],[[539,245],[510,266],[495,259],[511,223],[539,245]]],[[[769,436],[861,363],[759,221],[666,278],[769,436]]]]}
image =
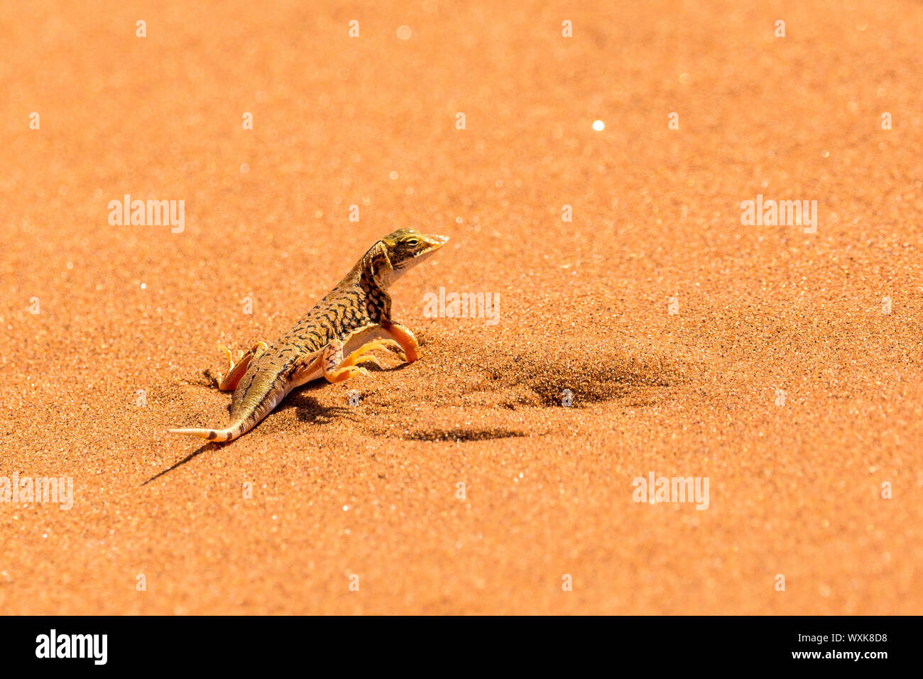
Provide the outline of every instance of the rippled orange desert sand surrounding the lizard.
{"type": "Polygon", "coordinates": [[[3,612],[923,610],[919,2],[0,27],[0,477],[73,484],[7,484],[3,612]],[[113,224],[126,195],[182,224],[113,224]],[[816,227],[743,224],[758,196],[816,227]],[[391,291],[419,361],[166,433],[226,424],[218,345],[401,226],[450,236],[391,291]],[[635,502],[651,474],[707,508],[635,502]]]}

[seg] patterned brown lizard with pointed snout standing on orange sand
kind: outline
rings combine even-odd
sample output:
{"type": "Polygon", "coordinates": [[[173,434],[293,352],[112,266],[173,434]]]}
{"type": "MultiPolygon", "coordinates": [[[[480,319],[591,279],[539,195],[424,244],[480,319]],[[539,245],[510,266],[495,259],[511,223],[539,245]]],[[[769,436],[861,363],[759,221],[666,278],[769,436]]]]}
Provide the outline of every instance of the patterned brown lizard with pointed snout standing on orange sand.
{"type": "Polygon", "coordinates": [[[378,365],[367,352],[389,348],[408,363],[419,358],[414,333],[391,320],[390,285],[449,240],[411,228],[376,241],[327,297],[271,344],[258,342],[236,361],[231,350],[218,389],[233,391],[231,422],[223,429],[171,429],[211,442],[233,441],[252,430],[293,389],[321,377],[344,382],[367,375],[363,363],[378,365]]]}

